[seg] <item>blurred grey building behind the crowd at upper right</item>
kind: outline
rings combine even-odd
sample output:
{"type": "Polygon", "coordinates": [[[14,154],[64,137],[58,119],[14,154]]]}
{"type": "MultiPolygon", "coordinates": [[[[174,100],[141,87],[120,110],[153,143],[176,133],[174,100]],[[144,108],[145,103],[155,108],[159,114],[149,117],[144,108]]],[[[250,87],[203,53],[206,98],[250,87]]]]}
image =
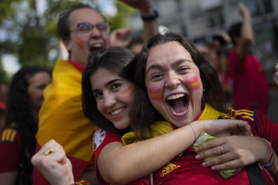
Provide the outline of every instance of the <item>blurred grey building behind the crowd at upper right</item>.
{"type": "MultiPolygon", "coordinates": [[[[153,0],[159,11],[158,23],[169,31],[177,32],[194,42],[210,42],[218,31],[227,31],[242,21],[238,12],[238,0],[153,0]]],[[[255,31],[255,53],[262,61],[266,72],[273,72],[277,63],[278,49],[278,1],[242,0],[249,8],[255,31]],[[276,64],[275,63],[275,64],[276,64]]],[[[138,30],[139,16],[131,18],[131,26],[138,30]],[[135,24],[136,23],[136,24],[135,24]]],[[[139,21],[140,22],[140,21],[139,21]]],[[[136,32],[136,31],[135,31],[136,32]]],[[[268,75],[268,74],[267,74],[268,75]]],[[[268,79],[271,79],[268,75],[268,79]]]]}

